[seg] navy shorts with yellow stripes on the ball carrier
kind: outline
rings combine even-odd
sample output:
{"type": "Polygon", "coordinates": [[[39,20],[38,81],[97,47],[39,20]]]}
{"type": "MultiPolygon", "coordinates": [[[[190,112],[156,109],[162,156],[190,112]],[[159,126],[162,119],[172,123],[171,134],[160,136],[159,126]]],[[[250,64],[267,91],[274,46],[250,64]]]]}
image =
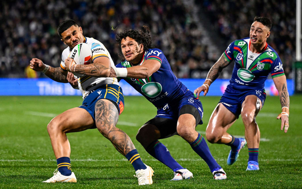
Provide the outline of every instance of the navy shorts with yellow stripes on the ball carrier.
{"type": "Polygon", "coordinates": [[[100,99],[108,99],[117,107],[117,111],[121,114],[124,110],[124,95],[122,88],[116,84],[106,84],[91,91],[83,100],[83,104],[79,108],[83,108],[89,112],[95,121],[95,103],[100,99]]]}

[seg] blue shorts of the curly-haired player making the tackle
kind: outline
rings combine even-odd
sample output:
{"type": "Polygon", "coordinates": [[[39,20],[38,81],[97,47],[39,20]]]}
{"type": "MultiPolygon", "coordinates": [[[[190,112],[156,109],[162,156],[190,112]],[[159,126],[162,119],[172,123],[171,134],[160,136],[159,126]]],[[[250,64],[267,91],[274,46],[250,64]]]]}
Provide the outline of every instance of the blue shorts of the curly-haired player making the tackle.
{"type": "MultiPolygon", "coordinates": [[[[185,95],[182,96],[180,99],[173,101],[173,103],[165,104],[164,107],[158,108],[157,115],[155,117],[172,119],[177,122],[179,117],[179,110],[182,108],[182,106],[185,105],[194,106],[198,110],[200,118],[202,119],[204,115],[202,104],[200,100],[196,98],[196,96],[194,96],[194,94],[190,90],[188,90],[187,93],[185,93],[185,95]]],[[[202,120],[200,120],[198,124],[201,125],[202,123],[202,120]]]]}

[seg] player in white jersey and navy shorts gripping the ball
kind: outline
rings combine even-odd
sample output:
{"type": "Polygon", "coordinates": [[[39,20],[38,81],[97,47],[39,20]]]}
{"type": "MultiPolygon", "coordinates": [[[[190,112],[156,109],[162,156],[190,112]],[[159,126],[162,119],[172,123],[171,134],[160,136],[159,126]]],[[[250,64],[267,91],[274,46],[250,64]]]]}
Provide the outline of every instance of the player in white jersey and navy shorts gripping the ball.
{"type": "Polygon", "coordinates": [[[129,136],[115,127],[124,109],[124,97],[117,79],[109,77],[110,67],[114,66],[111,56],[101,42],[84,37],[82,33],[82,28],[74,20],[63,21],[58,27],[58,34],[68,47],[62,53],[60,67],[50,67],[37,58],[30,61],[31,69],[42,71],[54,81],[78,84],[84,99],[81,106],[59,114],[47,125],[58,171],[43,182],[76,182],[75,174],[71,171],[70,144],[66,133],[97,128],[133,165],[139,185],[152,184],[154,171],[142,162],[129,136]],[[68,57],[72,48],[79,43],[91,47],[92,64],[73,67],[75,70],[72,71],[79,75],[74,79],[73,74],[68,72],[74,60],[68,57]]]}

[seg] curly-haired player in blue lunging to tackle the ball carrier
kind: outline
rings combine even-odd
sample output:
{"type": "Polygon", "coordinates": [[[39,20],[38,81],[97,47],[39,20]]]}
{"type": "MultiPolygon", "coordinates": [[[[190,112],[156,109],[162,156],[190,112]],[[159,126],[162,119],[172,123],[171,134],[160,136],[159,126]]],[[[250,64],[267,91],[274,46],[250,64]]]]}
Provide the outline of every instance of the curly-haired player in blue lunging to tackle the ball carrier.
{"type": "Polygon", "coordinates": [[[151,45],[149,28],[144,26],[144,29],[146,32],[130,29],[117,34],[123,61],[111,72],[112,77],[127,81],[157,108],[157,115],[139,129],[137,140],[150,155],[174,171],[174,181],[193,178],[158,141],[175,134],[184,138],[206,161],[214,179],[226,179],[205,139],[195,131],[195,127],[202,124],[201,102],[175,77],[164,53],[151,45]]]}

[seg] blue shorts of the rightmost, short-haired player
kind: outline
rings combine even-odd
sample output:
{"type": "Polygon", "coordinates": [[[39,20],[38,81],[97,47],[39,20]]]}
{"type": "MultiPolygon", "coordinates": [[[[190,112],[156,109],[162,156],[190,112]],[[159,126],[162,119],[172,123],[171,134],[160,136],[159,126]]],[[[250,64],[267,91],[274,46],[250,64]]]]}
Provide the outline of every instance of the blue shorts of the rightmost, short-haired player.
{"type": "Polygon", "coordinates": [[[261,100],[263,107],[266,98],[264,89],[238,91],[234,90],[231,85],[226,87],[226,90],[224,91],[219,103],[222,103],[228,110],[238,117],[241,114],[241,105],[245,100],[245,97],[248,95],[257,96],[261,100]]]}

